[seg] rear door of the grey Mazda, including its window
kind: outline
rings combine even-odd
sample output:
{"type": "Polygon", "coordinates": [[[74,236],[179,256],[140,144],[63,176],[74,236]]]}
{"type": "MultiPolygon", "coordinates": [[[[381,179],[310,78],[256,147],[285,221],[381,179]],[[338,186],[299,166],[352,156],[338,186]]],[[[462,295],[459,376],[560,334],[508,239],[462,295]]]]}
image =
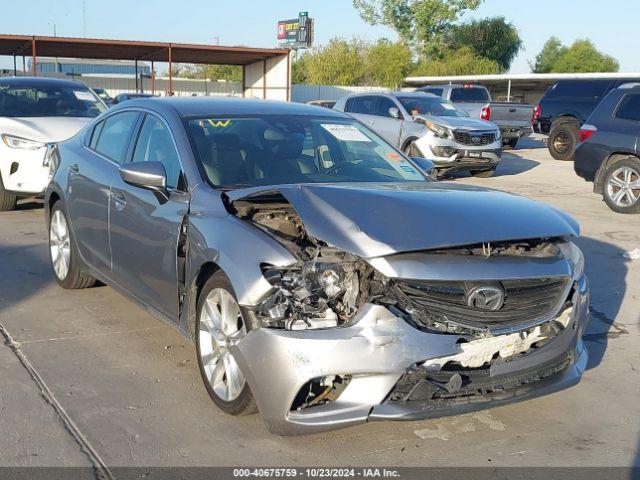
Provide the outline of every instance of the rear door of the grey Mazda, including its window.
{"type": "Polygon", "coordinates": [[[119,178],[118,168],[139,114],[124,111],[111,115],[87,134],[84,157],[71,165],[67,208],[82,258],[109,276],[109,185],[119,178]]]}

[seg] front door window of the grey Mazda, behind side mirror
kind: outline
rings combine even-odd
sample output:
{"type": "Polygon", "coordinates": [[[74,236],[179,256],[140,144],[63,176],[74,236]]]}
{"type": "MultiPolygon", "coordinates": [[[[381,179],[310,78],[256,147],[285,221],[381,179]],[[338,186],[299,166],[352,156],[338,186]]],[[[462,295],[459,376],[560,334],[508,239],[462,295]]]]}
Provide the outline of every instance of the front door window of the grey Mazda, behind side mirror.
{"type": "Polygon", "coordinates": [[[147,115],[133,152],[134,162],[160,162],[167,172],[167,188],[174,189],[180,179],[180,159],[171,132],[154,115],[147,115]]]}

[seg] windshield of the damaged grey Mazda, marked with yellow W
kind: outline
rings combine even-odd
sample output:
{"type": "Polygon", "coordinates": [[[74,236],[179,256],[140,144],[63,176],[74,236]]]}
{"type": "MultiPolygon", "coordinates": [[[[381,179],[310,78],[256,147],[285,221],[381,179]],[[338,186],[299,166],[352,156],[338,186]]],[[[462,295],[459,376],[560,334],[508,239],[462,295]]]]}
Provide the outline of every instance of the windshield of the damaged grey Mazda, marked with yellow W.
{"type": "Polygon", "coordinates": [[[190,119],[211,185],[426,181],[404,156],[355,120],[262,115],[190,119]]]}

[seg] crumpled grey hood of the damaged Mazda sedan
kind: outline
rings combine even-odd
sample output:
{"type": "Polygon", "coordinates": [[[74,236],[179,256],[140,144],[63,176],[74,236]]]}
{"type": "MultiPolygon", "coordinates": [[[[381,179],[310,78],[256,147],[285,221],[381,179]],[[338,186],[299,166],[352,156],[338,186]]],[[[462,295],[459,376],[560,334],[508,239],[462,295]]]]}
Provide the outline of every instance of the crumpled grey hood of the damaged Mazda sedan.
{"type": "Polygon", "coordinates": [[[233,202],[279,192],[310,235],[364,258],[539,237],[578,236],[541,202],[453,183],[303,184],[228,192],[233,202]]]}

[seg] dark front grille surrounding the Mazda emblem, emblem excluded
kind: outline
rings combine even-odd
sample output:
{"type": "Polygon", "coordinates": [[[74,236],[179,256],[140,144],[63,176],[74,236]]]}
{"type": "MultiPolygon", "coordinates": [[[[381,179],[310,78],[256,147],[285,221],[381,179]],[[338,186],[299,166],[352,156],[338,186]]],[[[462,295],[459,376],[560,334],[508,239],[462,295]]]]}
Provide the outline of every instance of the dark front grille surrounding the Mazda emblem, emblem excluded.
{"type": "MultiPolygon", "coordinates": [[[[492,329],[528,324],[551,318],[563,303],[568,278],[536,278],[502,282],[459,282],[407,280],[396,284],[405,307],[417,311],[420,323],[426,313],[472,329],[492,329]],[[468,306],[469,293],[475,287],[495,286],[504,292],[504,303],[498,310],[468,306]]],[[[424,325],[429,326],[429,325],[424,325]]]]}

